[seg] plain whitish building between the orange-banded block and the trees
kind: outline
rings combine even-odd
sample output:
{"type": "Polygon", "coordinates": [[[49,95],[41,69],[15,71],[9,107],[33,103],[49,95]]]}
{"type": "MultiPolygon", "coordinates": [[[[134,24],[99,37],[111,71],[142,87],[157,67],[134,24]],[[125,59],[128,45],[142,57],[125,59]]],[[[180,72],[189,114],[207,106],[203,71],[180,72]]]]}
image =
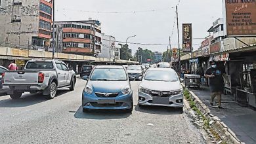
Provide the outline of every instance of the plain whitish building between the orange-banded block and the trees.
{"type": "Polygon", "coordinates": [[[116,43],[116,38],[112,35],[102,34],[102,48],[101,54],[98,58],[108,58],[113,60],[120,59],[121,46],[116,43]]]}

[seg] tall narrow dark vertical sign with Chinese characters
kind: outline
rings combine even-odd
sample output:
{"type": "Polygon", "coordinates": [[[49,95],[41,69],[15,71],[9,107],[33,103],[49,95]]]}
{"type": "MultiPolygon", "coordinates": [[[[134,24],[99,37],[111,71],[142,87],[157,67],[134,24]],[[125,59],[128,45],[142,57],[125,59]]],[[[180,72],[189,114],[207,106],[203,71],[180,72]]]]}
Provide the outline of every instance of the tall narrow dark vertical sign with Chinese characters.
{"type": "Polygon", "coordinates": [[[182,50],[192,52],[192,24],[182,24],[182,50]]]}

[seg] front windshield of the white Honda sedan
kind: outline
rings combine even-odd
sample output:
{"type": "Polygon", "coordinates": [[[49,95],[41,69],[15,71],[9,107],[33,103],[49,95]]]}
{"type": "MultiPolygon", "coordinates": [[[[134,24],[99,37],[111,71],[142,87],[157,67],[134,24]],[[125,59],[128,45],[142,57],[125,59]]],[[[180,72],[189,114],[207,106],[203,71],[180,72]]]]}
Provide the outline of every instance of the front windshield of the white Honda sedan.
{"type": "Polygon", "coordinates": [[[144,80],[147,81],[178,81],[178,77],[175,71],[163,71],[163,70],[149,70],[144,80]]]}

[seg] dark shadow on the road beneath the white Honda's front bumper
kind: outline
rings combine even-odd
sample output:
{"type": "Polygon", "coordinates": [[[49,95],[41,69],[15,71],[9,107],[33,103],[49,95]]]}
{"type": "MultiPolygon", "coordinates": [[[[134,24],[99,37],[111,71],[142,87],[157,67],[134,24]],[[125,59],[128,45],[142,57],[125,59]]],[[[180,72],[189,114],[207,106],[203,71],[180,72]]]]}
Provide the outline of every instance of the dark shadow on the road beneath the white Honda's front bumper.
{"type": "Polygon", "coordinates": [[[157,115],[181,115],[183,111],[181,109],[176,109],[174,107],[159,107],[159,106],[147,106],[142,105],[135,107],[135,111],[141,113],[157,114],[157,115]]]}

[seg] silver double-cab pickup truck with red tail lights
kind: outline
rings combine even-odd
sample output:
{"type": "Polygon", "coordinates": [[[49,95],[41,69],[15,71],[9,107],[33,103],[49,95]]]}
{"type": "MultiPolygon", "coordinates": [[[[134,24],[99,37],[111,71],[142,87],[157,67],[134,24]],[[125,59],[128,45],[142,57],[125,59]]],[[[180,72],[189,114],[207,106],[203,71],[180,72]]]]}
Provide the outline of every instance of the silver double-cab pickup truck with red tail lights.
{"type": "Polygon", "coordinates": [[[2,82],[12,99],[19,99],[24,92],[42,92],[53,99],[58,88],[74,90],[76,77],[61,60],[30,60],[24,71],[5,71],[2,82]]]}

